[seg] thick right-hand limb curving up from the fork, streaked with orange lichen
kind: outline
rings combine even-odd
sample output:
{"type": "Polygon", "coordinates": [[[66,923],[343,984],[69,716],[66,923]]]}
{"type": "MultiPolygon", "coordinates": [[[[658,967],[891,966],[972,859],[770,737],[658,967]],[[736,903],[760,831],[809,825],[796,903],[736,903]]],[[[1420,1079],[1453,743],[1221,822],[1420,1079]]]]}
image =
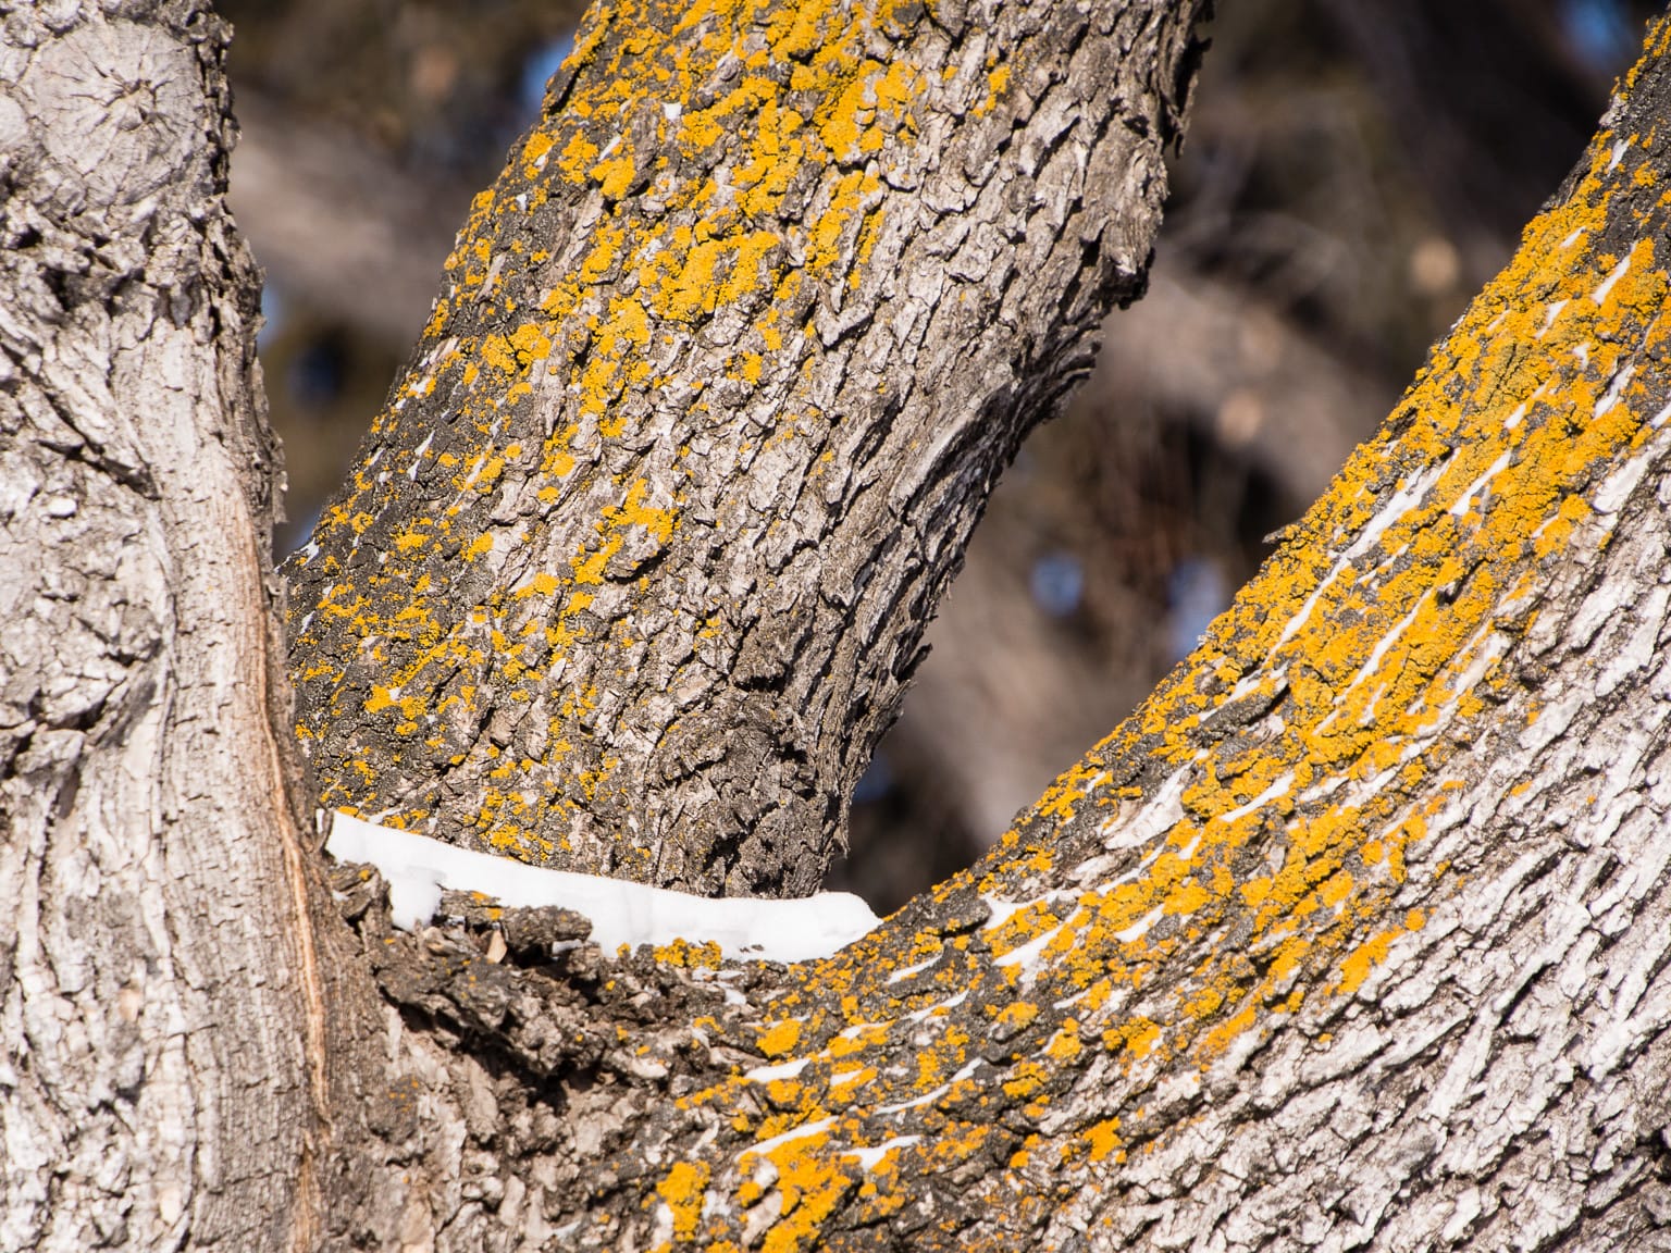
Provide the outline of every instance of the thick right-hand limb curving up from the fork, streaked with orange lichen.
{"type": "Polygon", "coordinates": [[[800,967],[386,966],[496,1068],[406,1128],[451,1246],[1671,1248],[1668,55],[983,865],[800,967]]]}

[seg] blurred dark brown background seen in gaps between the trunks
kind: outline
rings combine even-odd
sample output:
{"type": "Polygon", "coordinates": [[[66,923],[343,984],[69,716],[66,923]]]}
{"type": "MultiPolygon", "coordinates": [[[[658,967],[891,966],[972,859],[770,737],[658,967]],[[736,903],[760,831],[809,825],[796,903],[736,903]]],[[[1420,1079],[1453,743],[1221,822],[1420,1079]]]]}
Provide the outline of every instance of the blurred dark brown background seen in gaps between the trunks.
{"type": "MultiPolygon", "coordinates": [[[[1220,0],[1150,294],[1004,476],[832,885],[969,864],[1141,700],[1410,381],[1659,5],[1220,0]]],[[[540,107],[571,0],[222,0],[232,205],[306,538],[540,107]]]]}

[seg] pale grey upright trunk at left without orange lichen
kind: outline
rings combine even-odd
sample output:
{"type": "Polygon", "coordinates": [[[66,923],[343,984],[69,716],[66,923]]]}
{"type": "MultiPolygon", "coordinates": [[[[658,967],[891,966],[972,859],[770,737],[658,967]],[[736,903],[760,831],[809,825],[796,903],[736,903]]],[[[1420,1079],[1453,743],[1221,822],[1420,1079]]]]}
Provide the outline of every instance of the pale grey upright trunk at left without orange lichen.
{"type": "Polygon", "coordinates": [[[226,38],[180,2],[0,30],[7,1250],[311,1243],[324,1021],[226,38]]]}

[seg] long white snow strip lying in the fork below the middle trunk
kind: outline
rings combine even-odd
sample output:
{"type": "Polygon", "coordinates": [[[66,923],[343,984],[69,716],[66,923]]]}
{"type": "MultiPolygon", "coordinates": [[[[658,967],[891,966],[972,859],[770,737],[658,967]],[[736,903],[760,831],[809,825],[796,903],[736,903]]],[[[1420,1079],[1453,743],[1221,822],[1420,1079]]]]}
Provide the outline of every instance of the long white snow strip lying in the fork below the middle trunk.
{"type": "Polygon", "coordinates": [[[779,962],[829,957],[869,934],[881,919],[851,892],[800,900],[703,897],[593,874],[546,870],[508,857],[458,849],[428,835],[336,814],[326,852],[369,862],[389,884],[394,926],[416,931],[434,917],[441,890],[485,892],[510,907],[561,906],[592,921],[592,939],[615,952],[627,944],[719,944],[727,957],[779,962]]]}

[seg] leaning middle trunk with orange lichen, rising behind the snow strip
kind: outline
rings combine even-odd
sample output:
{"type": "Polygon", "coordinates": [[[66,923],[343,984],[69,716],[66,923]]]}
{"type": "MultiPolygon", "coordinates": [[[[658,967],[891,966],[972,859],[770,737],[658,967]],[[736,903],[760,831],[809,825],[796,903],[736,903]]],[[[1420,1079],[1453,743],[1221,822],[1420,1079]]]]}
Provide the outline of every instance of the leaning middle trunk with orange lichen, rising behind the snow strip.
{"type": "Polygon", "coordinates": [[[812,892],[988,490],[1141,287],[1200,10],[593,10],[291,563],[324,804],[812,892]]]}

